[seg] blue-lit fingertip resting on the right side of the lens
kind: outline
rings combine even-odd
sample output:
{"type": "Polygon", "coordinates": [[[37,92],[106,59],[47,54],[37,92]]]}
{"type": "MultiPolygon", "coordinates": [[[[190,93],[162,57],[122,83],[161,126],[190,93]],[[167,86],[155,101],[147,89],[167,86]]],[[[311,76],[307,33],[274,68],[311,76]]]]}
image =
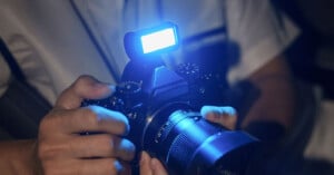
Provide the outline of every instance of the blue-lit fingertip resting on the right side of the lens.
{"type": "Polygon", "coordinates": [[[200,114],[205,119],[219,124],[228,129],[235,129],[236,127],[237,114],[233,107],[204,106],[200,109],[200,114]]]}

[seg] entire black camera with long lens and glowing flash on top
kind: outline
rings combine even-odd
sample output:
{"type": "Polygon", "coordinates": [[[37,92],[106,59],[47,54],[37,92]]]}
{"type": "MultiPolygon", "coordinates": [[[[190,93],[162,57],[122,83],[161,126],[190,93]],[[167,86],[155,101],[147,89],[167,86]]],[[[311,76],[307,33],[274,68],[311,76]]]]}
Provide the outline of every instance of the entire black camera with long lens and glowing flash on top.
{"type": "Polygon", "coordinates": [[[203,78],[193,62],[176,71],[164,66],[160,54],[177,46],[177,27],[170,22],[127,33],[130,61],[122,82],[111,97],[87,99],[82,106],[99,105],[125,114],[131,128],[127,137],[137,153],[147,150],[169,174],[244,174],[257,139],[203,119],[198,113],[202,105],[222,105],[216,99],[224,95],[213,91],[222,90],[222,84],[210,84],[207,75],[203,78]]]}

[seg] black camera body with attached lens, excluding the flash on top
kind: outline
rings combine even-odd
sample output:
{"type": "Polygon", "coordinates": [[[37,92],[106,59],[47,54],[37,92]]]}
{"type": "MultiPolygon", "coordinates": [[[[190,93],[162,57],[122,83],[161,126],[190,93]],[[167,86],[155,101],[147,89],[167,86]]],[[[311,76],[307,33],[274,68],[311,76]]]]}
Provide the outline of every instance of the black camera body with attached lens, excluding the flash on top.
{"type": "MultiPolygon", "coordinates": [[[[136,72],[131,69],[131,74],[136,72]]],[[[82,106],[99,105],[125,114],[131,128],[127,137],[137,153],[147,150],[159,158],[169,174],[245,173],[256,138],[205,120],[190,105],[189,84],[165,66],[147,78],[126,80],[111,97],[85,100],[82,106]]]]}

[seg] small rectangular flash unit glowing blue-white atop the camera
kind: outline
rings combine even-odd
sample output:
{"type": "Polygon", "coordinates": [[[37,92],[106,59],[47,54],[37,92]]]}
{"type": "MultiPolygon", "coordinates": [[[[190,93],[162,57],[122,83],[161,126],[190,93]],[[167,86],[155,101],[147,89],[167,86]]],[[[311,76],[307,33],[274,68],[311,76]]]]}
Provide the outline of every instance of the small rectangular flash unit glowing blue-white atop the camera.
{"type": "Polygon", "coordinates": [[[178,39],[177,26],[164,22],[153,28],[128,32],[124,42],[130,59],[143,59],[178,48],[178,39]]]}

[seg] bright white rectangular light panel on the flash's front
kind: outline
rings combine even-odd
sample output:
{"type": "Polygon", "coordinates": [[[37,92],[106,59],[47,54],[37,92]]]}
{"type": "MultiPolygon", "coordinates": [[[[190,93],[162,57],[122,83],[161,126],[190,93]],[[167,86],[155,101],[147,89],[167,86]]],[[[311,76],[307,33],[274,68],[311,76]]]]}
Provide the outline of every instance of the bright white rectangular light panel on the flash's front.
{"type": "Polygon", "coordinates": [[[176,45],[175,30],[167,28],[140,37],[144,54],[149,54],[176,45]]]}

